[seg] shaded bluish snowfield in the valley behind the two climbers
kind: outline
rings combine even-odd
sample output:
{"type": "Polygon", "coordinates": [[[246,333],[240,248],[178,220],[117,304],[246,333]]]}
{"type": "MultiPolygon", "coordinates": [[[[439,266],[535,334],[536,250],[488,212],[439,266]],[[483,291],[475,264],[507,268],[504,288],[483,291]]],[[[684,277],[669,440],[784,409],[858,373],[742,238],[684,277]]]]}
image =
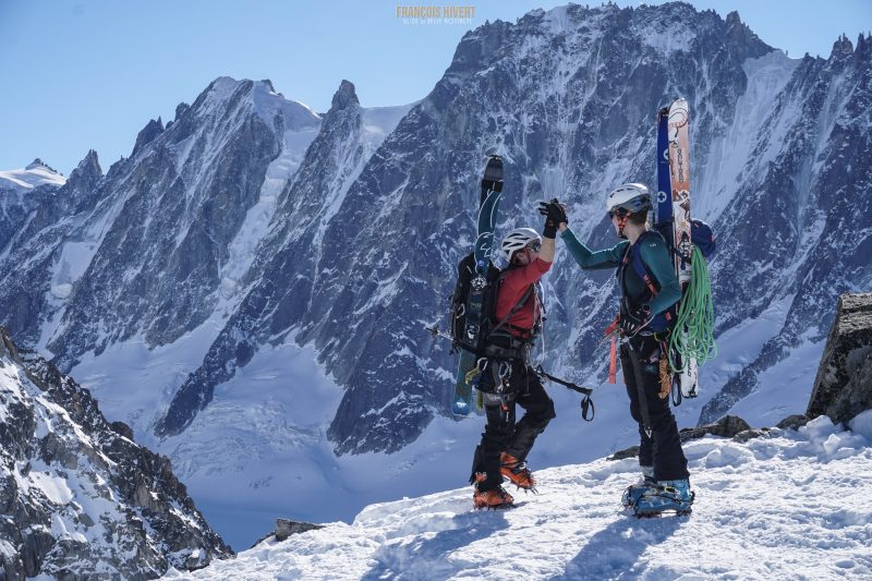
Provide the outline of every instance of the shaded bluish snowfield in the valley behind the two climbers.
{"type": "MultiPolygon", "coordinates": [[[[702,407],[753,360],[772,327],[780,325],[780,303],[771,311],[720,338],[718,358],[700,368],[701,396],[674,408],[679,427],[697,425],[702,407]]],[[[172,458],[197,508],[235,550],[250,547],[279,517],[351,522],[366,505],[453,488],[469,476],[484,428],[476,415],[460,422],[437,416],[421,438],[391,455],[334,455],[326,431],[342,390],[315,362],[312,349],[296,347],[292,337],[258,351],[219,386],[213,403],[182,435],[155,439],[149,425],[172,397],[172,386],[202,360],[208,344],[203,335],[217,332],[207,326],[155,350],[134,341],[110,347],[99,360],[84,358],[73,377],[99,399],[108,417],[132,425],[137,441],[172,458]],[[141,382],[128,385],[125,377],[141,382]],[[118,385],[126,389],[114,389],[118,385]]],[[[766,389],[742,402],[738,415],[763,427],[803,413],[822,349],[810,343],[773,367],[766,389]]],[[[588,462],[638,443],[618,377],[617,385],[569,377],[594,387],[596,416],[590,423],[581,419],[577,394],[546,384],[557,417],[530,456],[534,470],[588,462]]]]}

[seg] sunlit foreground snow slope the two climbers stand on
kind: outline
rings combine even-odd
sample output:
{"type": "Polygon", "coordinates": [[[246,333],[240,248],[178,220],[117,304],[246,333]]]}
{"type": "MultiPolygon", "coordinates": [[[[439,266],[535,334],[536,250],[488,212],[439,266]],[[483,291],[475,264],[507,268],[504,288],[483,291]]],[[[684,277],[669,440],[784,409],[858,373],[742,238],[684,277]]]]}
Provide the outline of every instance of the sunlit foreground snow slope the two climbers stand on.
{"type": "Polygon", "coordinates": [[[540,471],[512,510],[472,510],[470,488],[404,498],[166,578],[870,579],[872,410],[851,427],[688,443],[690,517],[635,519],[635,459],[601,459],[540,471]]]}

